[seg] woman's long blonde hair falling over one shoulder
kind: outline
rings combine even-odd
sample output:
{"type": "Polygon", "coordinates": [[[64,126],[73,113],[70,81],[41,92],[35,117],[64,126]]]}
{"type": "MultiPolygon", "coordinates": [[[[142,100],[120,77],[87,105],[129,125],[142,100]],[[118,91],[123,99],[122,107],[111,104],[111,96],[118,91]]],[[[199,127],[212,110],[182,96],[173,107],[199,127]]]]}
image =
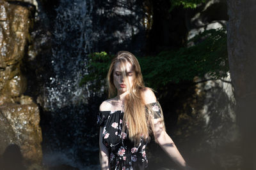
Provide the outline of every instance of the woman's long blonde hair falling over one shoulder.
{"type": "MultiPolygon", "coordinates": [[[[120,66],[122,67],[122,74],[124,76],[125,85],[127,85],[129,94],[125,97],[123,118],[124,124],[122,131],[125,132],[125,130],[128,130],[129,139],[134,141],[135,145],[137,145],[140,143],[141,138],[144,138],[145,140],[150,139],[149,134],[152,132],[154,125],[151,124],[150,115],[148,113],[154,113],[154,111],[152,111],[152,108],[146,105],[143,101],[141,93],[142,90],[145,89],[145,85],[141,74],[140,64],[136,57],[130,52],[118,52],[109,66],[109,98],[116,96],[116,88],[113,82],[113,71],[117,62],[120,62],[120,66]],[[132,65],[133,85],[129,85],[129,81],[127,80],[127,68],[125,67],[127,62],[132,65]],[[145,106],[147,106],[148,111],[146,111],[145,106]]],[[[151,116],[159,117],[157,114],[151,116]]]]}

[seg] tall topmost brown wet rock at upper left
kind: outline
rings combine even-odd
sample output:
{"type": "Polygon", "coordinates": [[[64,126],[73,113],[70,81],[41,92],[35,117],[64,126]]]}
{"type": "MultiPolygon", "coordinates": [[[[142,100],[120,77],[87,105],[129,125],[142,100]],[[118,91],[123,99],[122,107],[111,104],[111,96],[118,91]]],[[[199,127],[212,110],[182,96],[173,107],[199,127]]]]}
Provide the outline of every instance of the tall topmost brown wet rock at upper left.
{"type": "Polygon", "coordinates": [[[16,64],[24,56],[24,47],[29,36],[30,11],[23,6],[4,3],[7,20],[1,22],[3,36],[1,44],[4,51],[1,53],[8,66],[16,64]],[[27,36],[27,37],[26,37],[27,36]]]}

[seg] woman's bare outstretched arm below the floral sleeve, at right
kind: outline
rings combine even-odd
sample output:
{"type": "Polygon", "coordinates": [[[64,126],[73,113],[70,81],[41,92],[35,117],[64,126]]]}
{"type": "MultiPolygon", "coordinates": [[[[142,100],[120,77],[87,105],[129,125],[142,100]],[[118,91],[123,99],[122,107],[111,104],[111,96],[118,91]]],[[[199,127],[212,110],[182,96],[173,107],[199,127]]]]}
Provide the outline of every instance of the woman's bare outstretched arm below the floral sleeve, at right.
{"type": "Polygon", "coordinates": [[[189,169],[190,167],[186,165],[185,160],[183,159],[182,155],[180,155],[180,152],[173,143],[172,139],[166,133],[166,131],[164,131],[161,119],[152,119],[152,124],[154,125],[154,136],[156,141],[161,148],[163,148],[164,152],[166,152],[177,165],[182,167],[182,169],[189,169]]]}

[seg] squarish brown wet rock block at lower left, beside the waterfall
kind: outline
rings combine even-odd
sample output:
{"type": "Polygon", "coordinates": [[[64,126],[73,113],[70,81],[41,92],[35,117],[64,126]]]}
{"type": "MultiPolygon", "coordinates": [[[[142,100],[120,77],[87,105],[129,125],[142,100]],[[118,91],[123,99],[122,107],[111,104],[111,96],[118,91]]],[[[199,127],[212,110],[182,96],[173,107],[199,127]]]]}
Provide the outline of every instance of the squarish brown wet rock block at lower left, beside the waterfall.
{"type": "Polygon", "coordinates": [[[3,104],[0,106],[0,153],[10,144],[20,147],[24,159],[40,162],[42,134],[36,104],[3,104]]]}

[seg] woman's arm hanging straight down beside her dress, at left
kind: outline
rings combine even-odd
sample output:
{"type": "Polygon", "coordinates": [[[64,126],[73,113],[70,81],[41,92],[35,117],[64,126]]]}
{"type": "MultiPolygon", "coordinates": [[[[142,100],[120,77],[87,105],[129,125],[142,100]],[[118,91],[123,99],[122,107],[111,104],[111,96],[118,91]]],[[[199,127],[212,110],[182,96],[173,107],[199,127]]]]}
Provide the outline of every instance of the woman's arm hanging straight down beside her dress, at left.
{"type": "Polygon", "coordinates": [[[99,148],[100,148],[100,167],[102,170],[108,170],[109,168],[109,154],[108,148],[102,143],[102,127],[100,127],[99,134],[99,148]]]}

